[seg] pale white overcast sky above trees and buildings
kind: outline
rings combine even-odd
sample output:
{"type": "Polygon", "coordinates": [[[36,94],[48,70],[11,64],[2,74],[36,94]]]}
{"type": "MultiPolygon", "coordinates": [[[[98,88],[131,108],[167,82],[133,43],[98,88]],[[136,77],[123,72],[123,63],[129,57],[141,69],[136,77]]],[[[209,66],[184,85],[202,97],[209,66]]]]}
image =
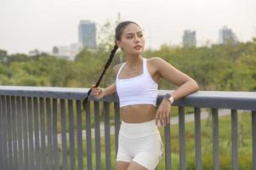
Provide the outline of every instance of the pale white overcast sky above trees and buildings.
{"type": "Polygon", "coordinates": [[[180,44],[185,29],[198,44],[217,42],[228,26],[242,42],[256,37],[256,0],[0,0],[0,49],[28,53],[77,42],[80,20],[133,20],[145,31],[146,46],[180,44]]]}

